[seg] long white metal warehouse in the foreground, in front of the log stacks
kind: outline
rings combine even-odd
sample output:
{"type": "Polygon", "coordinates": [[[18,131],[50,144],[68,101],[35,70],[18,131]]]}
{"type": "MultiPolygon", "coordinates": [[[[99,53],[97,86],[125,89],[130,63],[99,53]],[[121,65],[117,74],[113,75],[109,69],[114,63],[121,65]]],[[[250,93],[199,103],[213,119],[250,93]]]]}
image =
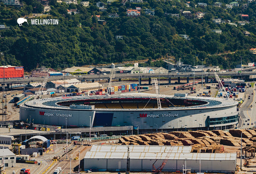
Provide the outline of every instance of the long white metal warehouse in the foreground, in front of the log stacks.
{"type": "Polygon", "coordinates": [[[160,167],[168,159],[163,171],[187,170],[229,173],[236,170],[236,153],[190,153],[191,146],[154,145],[93,145],[84,157],[84,170],[126,171],[129,148],[130,171],[151,171],[153,163],[160,167]],[[157,161],[156,161],[157,160],[157,161]]]}

